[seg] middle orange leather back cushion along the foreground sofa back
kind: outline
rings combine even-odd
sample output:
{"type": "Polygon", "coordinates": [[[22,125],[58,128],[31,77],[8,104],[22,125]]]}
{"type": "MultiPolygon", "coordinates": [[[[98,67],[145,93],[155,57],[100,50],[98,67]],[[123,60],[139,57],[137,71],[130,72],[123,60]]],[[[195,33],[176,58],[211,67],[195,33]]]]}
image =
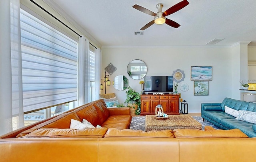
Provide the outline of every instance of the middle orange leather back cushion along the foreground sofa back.
{"type": "Polygon", "coordinates": [[[163,131],[139,131],[139,130],[132,130],[132,129],[123,129],[119,130],[116,128],[109,128],[104,138],[113,138],[113,137],[154,137],[154,138],[170,138],[174,137],[172,134],[172,130],[163,130],[163,131]]]}

